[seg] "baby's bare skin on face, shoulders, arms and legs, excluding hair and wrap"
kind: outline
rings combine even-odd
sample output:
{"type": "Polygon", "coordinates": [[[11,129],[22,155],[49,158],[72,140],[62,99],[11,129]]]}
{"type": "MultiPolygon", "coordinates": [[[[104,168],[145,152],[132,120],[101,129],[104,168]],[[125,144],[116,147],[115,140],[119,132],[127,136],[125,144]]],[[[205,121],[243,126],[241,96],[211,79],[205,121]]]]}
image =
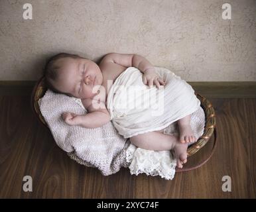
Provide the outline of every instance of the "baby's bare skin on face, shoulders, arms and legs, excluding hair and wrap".
{"type": "MultiPolygon", "coordinates": [[[[63,93],[80,98],[88,113],[76,115],[66,112],[62,119],[68,125],[80,125],[86,128],[96,128],[110,121],[110,115],[105,106],[109,88],[107,81],[115,79],[128,67],[135,67],[143,73],[145,85],[164,85],[164,81],[155,72],[154,66],[137,54],[107,54],[99,66],[84,58],[62,58],[57,61],[64,69],[54,87],[63,93]],[[94,107],[99,105],[99,108],[94,107]]],[[[190,115],[178,121],[180,138],[162,133],[162,131],[147,132],[130,138],[138,147],[149,150],[174,150],[178,168],[186,163],[186,150],[189,142],[195,138],[190,127],[190,115]],[[159,141],[159,142],[158,142],[159,141]]]]}

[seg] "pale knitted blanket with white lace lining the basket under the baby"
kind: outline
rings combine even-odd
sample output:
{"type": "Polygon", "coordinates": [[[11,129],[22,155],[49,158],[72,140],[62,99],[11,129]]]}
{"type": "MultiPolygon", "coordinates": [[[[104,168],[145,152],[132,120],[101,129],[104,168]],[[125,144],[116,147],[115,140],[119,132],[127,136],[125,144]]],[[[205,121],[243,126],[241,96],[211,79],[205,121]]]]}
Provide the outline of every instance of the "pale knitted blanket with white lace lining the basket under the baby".
{"type": "MultiPolygon", "coordinates": [[[[145,173],[172,180],[176,160],[169,151],[153,151],[136,148],[129,139],[120,136],[111,122],[96,129],[69,126],[61,118],[65,111],[84,114],[80,99],[47,90],[38,101],[40,111],[48,124],[56,144],[65,152],[74,152],[83,164],[93,166],[107,176],[129,167],[131,174],[145,173]]],[[[191,126],[199,138],[204,132],[205,116],[200,107],[192,113],[191,126]]],[[[166,134],[178,134],[176,123],[164,129],[166,134]]]]}

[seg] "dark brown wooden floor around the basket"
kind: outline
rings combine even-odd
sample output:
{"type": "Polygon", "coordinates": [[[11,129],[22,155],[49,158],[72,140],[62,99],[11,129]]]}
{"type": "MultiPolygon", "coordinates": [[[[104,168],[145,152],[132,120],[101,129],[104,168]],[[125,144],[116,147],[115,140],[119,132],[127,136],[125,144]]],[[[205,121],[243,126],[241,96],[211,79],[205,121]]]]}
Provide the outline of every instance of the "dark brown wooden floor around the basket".
{"type": "Polygon", "coordinates": [[[174,180],[122,168],[101,176],[68,158],[32,114],[29,97],[0,96],[1,198],[255,198],[256,99],[210,99],[217,114],[218,146],[204,166],[174,180]],[[32,192],[23,191],[31,176],[32,192]],[[231,192],[222,177],[231,177],[231,192]]]}

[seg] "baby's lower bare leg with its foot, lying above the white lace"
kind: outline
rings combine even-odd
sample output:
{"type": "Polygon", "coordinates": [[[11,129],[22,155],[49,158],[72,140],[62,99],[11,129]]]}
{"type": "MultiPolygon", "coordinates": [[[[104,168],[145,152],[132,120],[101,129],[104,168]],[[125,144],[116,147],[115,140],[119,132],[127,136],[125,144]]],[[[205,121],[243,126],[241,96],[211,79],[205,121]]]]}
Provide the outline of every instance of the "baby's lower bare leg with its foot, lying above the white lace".
{"type": "Polygon", "coordinates": [[[138,134],[130,138],[131,143],[139,148],[147,150],[174,150],[178,168],[182,168],[182,164],[186,163],[186,150],[188,144],[179,142],[176,136],[164,134],[159,131],[138,134]]]}

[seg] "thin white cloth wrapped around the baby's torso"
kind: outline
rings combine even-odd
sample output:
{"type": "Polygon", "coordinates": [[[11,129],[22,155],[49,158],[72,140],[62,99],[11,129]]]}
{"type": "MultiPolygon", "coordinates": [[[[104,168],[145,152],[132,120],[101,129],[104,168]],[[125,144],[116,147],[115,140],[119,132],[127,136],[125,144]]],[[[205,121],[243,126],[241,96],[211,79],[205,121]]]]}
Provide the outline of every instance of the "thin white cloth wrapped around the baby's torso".
{"type": "Polygon", "coordinates": [[[107,109],[115,129],[124,138],[160,131],[197,111],[200,100],[194,89],[170,70],[155,67],[164,88],[143,83],[143,73],[127,68],[115,79],[107,95],[107,109]]]}

